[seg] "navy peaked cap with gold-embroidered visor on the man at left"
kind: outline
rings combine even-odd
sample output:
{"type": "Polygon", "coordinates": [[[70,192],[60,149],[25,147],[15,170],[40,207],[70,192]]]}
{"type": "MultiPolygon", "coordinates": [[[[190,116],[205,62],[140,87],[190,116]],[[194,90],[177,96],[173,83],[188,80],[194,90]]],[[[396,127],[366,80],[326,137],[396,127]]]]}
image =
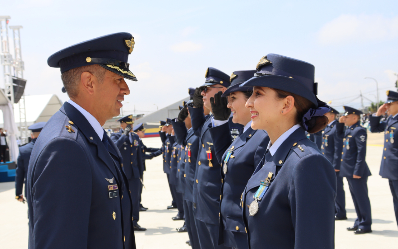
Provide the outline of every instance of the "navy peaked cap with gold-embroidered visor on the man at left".
{"type": "Polygon", "coordinates": [[[51,55],[47,64],[50,67],[60,67],[61,73],[76,67],[98,64],[129,80],[137,81],[127,63],[134,45],[131,33],[113,33],[64,48],[51,55]]]}

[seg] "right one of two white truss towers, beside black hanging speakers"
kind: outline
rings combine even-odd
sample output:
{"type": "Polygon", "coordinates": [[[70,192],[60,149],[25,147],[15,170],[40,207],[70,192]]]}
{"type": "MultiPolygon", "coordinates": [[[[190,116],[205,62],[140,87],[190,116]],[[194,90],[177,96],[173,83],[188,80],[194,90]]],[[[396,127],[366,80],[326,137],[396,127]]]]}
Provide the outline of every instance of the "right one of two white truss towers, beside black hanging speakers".
{"type": "MultiPolygon", "coordinates": [[[[14,37],[14,51],[15,56],[13,60],[14,74],[18,78],[23,78],[23,70],[24,65],[22,61],[22,53],[21,53],[21,39],[20,39],[20,29],[22,26],[10,26],[12,29],[13,37],[14,37]]],[[[21,136],[21,144],[25,144],[28,142],[28,130],[26,124],[26,108],[25,108],[25,94],[22,94],[20,101],[18,102],[20,109],[20,136],[21,136]]]]}

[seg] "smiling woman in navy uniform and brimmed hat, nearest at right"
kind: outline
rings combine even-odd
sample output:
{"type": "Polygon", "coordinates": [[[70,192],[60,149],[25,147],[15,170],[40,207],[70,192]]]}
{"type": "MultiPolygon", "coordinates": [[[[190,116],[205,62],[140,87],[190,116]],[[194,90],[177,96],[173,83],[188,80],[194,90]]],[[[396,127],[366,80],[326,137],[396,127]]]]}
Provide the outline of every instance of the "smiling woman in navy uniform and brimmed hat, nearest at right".
{"type": "Polygon", "coordinates": [[[249,248],[334,248],[336,174],[304,132],[328,124],[314,66],[268,54],[256,68],[240,86],[254,86],[246,107],[252,128],[265,129],[270,142],[243,192],[249,248]]]}

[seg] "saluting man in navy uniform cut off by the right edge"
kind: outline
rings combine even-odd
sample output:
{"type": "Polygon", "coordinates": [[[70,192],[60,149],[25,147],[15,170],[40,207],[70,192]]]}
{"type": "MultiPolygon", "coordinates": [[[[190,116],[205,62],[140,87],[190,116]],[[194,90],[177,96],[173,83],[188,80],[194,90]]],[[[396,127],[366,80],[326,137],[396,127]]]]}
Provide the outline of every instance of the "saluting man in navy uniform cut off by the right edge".
{"type": "Polygon", "coordinates": [[[394,138],[398,129],[398,92],[388,90],[386,103],[373,115],[369,116],[371,132],[384,132],[384,150],[379,174],[388,179],[398,224],[398,142],[395,143],[394,138]],[[380,122],[385,112],[389,115],[388,120],[380,122]]]}

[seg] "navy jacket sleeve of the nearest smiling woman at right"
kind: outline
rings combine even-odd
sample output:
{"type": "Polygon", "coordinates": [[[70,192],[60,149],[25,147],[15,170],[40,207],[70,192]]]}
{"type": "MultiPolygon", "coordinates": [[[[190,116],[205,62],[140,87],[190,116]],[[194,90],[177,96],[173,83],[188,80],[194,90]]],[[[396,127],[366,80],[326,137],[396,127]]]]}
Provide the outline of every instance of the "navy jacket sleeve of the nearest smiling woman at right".
{"type": "Polygon", "coordinates": [[[310,154],[296,163],[289,189],[295,249],[334,248],[336,191],[336,174],[326,157],[310,154]]]}

